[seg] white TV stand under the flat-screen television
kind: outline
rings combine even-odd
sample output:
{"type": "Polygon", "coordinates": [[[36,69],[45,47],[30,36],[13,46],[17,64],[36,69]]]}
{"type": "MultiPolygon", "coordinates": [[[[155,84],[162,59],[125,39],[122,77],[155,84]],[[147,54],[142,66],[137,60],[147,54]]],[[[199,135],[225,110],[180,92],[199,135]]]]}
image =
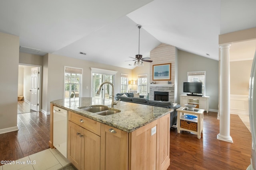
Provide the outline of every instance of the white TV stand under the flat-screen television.
{"type": "Polygon", "coordinates": [[[180,95],[180,105],[186,107],[184,104],[194,104],[198,109],[204,109],[209,112],[209,96],[187,96],[185,94],[180,95]]]}

